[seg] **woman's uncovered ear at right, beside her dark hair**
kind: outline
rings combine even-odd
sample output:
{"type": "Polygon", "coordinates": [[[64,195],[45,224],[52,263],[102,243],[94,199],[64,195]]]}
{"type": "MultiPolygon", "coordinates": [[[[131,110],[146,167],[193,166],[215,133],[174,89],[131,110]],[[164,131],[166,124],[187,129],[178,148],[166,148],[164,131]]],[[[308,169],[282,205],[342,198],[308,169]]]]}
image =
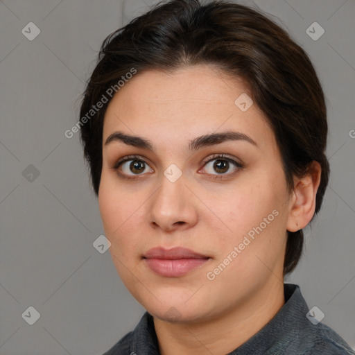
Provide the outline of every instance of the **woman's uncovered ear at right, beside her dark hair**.
{"type": "Polygon", "coordinates": [[[320,174],[322,168],[318,162],[311,163],[309,173],[303,178],[295,180],[295,189],[291,196],[287,230],[297,232],[308,225],[315,211],[315,197],[320,184],[320,174]]]}

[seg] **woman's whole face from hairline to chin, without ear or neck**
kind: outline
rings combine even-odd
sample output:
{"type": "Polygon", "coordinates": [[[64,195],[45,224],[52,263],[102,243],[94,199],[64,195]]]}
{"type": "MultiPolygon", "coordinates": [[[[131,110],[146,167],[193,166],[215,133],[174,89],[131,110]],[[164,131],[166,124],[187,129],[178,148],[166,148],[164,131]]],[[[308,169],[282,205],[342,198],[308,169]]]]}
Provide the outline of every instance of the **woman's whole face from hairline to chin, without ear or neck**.
{"type": "Polygon", "coordinates": [[[128,291],[162,320],[216,318],[283,282],[289,196],[275,136],[241,80],[211,68],[137,73],[105,113],[105,236],[128,291]]]}

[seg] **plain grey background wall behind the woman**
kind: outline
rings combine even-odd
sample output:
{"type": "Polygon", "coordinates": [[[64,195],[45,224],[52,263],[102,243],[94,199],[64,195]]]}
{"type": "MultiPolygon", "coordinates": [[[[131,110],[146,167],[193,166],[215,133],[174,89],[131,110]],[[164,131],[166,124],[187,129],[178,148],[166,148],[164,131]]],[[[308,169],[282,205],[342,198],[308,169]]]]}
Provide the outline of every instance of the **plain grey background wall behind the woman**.
{"type": "MultiPolygon", "coordinates": [[[[0,2],[1,355],[102,354],[144,313],[110,252],[93,246],[104,234],[98,203],[78,133],[67,139],[64,131],[79,118],[78,96],[103,39],[155,2],[0,2]],[[32,41],[21,33],[31,21],[41,31],[32,41]],[[35,169],[40,175],[30,176],[35,169]],[[40,313],[33,325],[22,317],[29,306],[40,313]]],[[[302,263],[286,281],[300,284],[309,307],[355,348],[355,2],[243,3],[302,45],[327,96],[331,180],[305,229],[302,263]],[[306,33],[314,21],[325,31],[318,40],[306,33]]]]}

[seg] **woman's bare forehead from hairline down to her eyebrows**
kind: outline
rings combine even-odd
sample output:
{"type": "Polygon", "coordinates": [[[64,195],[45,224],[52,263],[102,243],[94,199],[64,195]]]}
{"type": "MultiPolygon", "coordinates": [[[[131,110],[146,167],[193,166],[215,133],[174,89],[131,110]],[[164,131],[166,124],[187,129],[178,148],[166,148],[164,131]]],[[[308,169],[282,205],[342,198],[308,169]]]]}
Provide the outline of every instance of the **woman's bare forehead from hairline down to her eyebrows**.
{"type": "Polygon", "coordinates": [[[110,101],[103,142],[116,130],[150,141],[159,139],[168,146],[211,132],[238,130],[261,148],[275,150],[275,137],[257,105],[253,103],[245,112],[236,105],[239,97],[248,100],[245,95],[251,96],[243,80],[210,65],[173,73],[143,71],[128,80],[110,101]]]}

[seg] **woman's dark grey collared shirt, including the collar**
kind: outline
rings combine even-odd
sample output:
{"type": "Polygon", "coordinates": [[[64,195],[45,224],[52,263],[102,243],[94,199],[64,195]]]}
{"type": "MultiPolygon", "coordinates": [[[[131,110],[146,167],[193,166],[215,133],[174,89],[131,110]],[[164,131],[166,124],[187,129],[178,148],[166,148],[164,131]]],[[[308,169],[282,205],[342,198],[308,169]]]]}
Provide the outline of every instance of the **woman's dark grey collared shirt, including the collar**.
{"type": "MultiPolygon", "coordinates": [[[[284,284],[285,304],[260,330],[230,355],[355,355],[334,330],[306,316],[309,308],[300,287],[284,284]],[[311,322],[312,320],[312,322],[311,322]],[[313,324],[314,323],[314,324],[313,324]]],[[[159,355],[153,317],[148,312],[103,355],[159,355]]]]}

